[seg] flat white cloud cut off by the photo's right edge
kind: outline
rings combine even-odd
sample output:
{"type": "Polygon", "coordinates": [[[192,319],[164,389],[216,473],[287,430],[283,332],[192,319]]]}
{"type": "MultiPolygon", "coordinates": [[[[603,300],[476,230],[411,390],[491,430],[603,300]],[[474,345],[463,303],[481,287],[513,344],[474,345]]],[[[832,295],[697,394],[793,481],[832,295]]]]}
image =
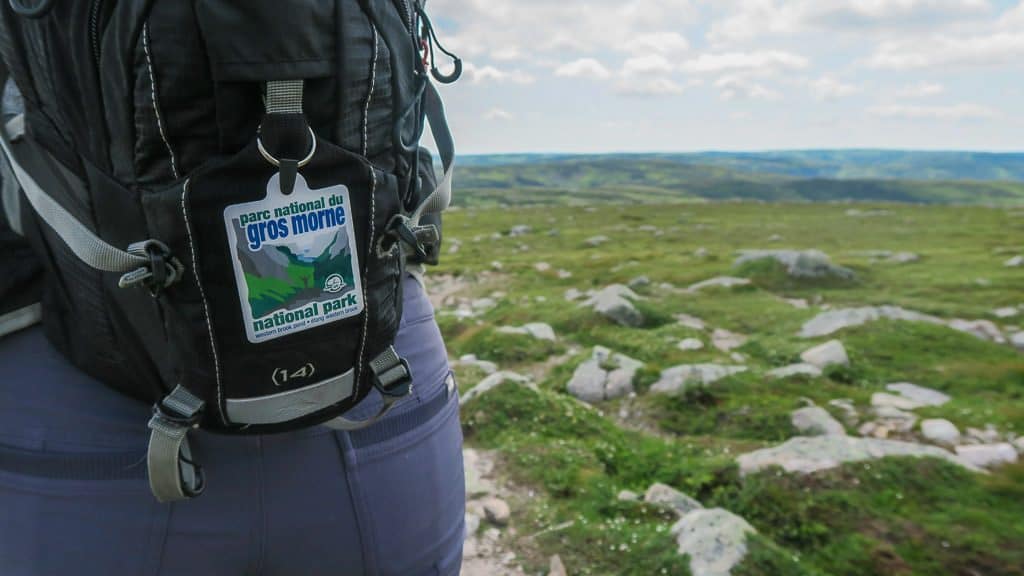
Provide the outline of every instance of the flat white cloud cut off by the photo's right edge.
{"type": "Polygon", "coordinates": [[[884,42],[867,59],[880,70],[997,66],[1024,58],[1024,32],[884,42]]]}

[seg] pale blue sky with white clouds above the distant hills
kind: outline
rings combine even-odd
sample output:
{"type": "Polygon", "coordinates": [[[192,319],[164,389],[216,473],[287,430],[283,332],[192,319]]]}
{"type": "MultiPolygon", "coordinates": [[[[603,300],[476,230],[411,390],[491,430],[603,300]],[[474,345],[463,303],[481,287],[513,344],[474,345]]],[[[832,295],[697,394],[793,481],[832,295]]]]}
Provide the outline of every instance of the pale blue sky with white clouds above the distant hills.
{"type": "MultiPolygon", "coordinates": [[[[1024,0],[430,0],[461,154],[1024,151],[1024,0]]],[[[443,67],[442,67],[443,68],[443,67]]]]}

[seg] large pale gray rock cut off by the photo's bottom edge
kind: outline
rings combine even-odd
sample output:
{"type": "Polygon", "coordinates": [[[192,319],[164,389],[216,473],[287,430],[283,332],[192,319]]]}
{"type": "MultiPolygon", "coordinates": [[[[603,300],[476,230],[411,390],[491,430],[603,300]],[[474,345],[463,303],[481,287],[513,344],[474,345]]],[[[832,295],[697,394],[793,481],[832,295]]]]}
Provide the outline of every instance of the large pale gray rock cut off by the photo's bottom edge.
{"type": "Polygon", "coordinates": [[[694,510],[672,527],[676,551],[690,557],[693,576],[729,576],[746,557],[746,535],[755,533],[745,520],[722,508],[694,510]]]}

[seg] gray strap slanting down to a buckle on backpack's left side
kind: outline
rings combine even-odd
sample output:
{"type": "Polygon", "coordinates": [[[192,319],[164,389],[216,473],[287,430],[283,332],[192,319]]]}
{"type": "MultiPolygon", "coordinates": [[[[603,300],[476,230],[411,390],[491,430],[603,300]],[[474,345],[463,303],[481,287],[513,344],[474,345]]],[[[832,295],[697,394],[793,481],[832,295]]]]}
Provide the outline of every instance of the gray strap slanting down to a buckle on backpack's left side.
{"type": "Polygon", "coordinates": [[[79,259],[91,268],[104,272],[125,273],[150,264],[148,258],[130,254],[103,242],[85,224],[78,221],[71,212],[50,198],[14,159],[7,134],[0,135],[0,148],[3,148],[7,162],[14,172],[14,177],[22,184],[29,203],[79,259]]]}

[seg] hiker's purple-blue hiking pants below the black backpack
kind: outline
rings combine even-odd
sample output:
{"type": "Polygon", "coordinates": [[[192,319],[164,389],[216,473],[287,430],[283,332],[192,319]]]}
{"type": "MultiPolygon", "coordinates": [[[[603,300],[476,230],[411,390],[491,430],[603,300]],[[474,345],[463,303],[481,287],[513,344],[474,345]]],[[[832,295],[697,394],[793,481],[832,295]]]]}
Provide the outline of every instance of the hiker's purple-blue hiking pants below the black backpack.
{"type": "Polygon", "coordinates": [[[411,278],[404,291],[413,398],[358,433],[199,433],[206,492],[174,504],[150,494],[148,406],[77,371],[39,328],[0,340],[0,575],[458,574],[459,403],[430,302],[411,278]]]}

